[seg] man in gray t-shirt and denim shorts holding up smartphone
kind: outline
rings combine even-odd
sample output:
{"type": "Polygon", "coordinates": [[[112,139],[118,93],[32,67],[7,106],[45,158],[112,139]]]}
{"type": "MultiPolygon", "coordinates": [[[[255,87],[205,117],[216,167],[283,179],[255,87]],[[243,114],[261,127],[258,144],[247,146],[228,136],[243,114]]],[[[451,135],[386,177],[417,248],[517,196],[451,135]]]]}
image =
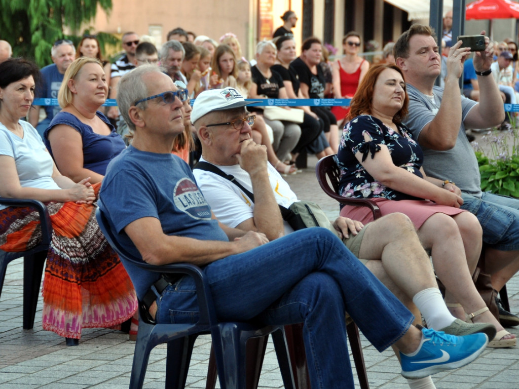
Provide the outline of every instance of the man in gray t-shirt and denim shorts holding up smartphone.
{"type": "MultiPolygon", "coordinates": [[[[409,95],[405,124],[424,149],[424,169],[427,175],[451,180],[461,189],[461,208],[476,215],[483,227],[485,271],[491,274],[494,288],[500,290],[519,270],[519,200],[481,191],[479,166],[465,130],[499,126],[504,109],[491,76],[493,45],[488,37],[485,50],[476,51],[473,60],[480,101],[461,96],[459,77],[463,62],[472,53],[469,47],[461,46],[462,41],[458,41],[449,50],[444,88],[434,86],[441,60],[429,26],[412,25],[393,50],[409,95]]],[[[519,324],[519,318],[506,311],[500,316],[503,326],[519,324]]]]}

